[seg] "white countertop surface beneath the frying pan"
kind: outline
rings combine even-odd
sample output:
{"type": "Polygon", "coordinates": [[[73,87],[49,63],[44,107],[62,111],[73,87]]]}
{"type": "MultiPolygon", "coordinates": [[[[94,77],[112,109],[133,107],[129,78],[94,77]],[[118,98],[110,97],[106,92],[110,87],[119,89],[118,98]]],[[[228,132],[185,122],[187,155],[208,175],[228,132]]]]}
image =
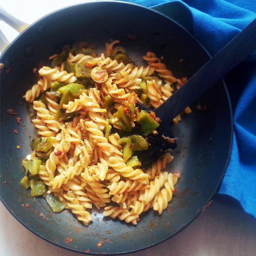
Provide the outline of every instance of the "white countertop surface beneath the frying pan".
{"type": "MultiPolygon", "coordinates": [[[[71,1],[0,0],[13,16],[32,23],[41,16],[71,4],[71,1]],[[22,10],[22,12],[20,12],[22,10]]],[[[72,4],[84,2],[73,0],[72,4]]],[[[13,40],[12,28],[0,21],[0,29],[13,40]]],[[[210,206],[186,229],[151,249],[131,256],[254,256],[256,219],[244,213],[233,199],[217,195],[210,206]]],[[[0,256],[78,256],[45,242],[24,228],[0,202],[0,256]]]]}

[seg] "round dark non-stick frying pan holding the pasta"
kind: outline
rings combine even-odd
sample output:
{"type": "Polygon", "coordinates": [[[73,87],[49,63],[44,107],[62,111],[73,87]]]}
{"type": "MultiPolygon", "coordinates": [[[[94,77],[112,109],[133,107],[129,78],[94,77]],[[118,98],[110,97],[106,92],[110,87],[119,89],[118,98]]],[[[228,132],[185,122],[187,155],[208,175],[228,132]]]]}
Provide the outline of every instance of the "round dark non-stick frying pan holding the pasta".
{"type": "Polygon", "coordinates": [[[23,176],[20,161],[31,152],[30,136],[36,134],[22,99],[37,81],[33,68],[40,61],[47,64],[48,57],[66,44],[89,41],[98,45],[101,53],[104,43],[115,39],[138,64],[147,51],[164,56],[176,77],[190,77],[210,58],[175,21],[133,4],[97,1],[62,9],[35,22],[0,59],[5,64],[0,75],[1,201],[34,234],[77,252],[128,253],[170,238],[192,222],[216,193],[229,162],[232,113],[226,86],[218,81],[194,102],[193,113],[172,127],[179,140],[175,159],[167,170],[179,171],[181,178],[177,195],[161,216],[149,211],[133,226],[103,218],[101,212],[95,211],[93,223],[84,227],[70,211],[54,214],[44,199],[34,201],[30,197],[19,182],[23,176]],[[127,35],[136,35],[136,40],[129,40],[127,35]],[[205,104],[207,111],[199,111],[198,103],[205,104]],[[24,125],[18,125],[17,116],[7,114],[9,108],[19,113],[24,125]],[[14,129],[19,129],[17,135],[14,129]],[[21,148],[17,149],[17,145],[21,148]],[[67,237],[72,238],[71,243],[67,243],[67,237]],[[99,242],[101,246],[97,246],[99,242]]]}

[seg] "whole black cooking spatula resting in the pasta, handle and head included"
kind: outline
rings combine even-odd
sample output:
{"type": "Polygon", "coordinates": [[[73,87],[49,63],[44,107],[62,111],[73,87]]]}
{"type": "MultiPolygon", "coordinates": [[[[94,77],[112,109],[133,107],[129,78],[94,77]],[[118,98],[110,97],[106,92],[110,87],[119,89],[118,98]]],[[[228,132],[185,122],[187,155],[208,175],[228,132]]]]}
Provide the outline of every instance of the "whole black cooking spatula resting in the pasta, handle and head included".
{"type": "Polygon", "coordinates": [[[168,143],[168,140],[164,139],[165,137],[174,138],[170,122],[175,116],[254,50],[256,50],[256,19],[213,56],[160,107],[152,110],[139,102],[136,103],[141,110],[154,111],[155,115],[161,119],[161,124],[157,128],[158,135],[148,137],[150,147],[147,152],[143,151],[139,155],[143,168],[147,168],[167,150],[175,148],[176,143],[168,143]]]}

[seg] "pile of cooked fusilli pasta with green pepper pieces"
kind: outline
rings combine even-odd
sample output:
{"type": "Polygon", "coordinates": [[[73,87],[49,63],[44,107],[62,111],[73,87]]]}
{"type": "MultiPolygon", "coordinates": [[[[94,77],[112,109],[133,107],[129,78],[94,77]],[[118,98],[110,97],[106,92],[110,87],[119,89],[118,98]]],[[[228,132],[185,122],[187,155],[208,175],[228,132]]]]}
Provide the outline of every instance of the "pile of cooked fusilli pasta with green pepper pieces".
{"type": "MultiPolygon", "coordinates": [[[[134,143],[126,149],[125,145],[134,138],[128,134],[140,114],[135,101],[157,108],[186,79],[176,79],[151,52],[143,56],[148,66],[137,67],[124,48],[115,47],[117,43],[107,43],[101,55],[85,43],[64,47],[50,57],[51,67],[35,70],[40,79],[24,95],[33,105],[32,122],[39,135],[23,162],[30,180],[27,188],[43,182],[47,189],[34,196],[54,195],[51,200],[63,206],[55,212],[70,209],[85,225],[93,220],[93,206],[104,208],[103,216],[132,224],[150,208],[162,214],[179,178],[178,173],[163,171],[173,160],[170,153],[142,170],[136,152],[127,153],[134,143]],[[34,159],[39,162],[26,167],[34,159]],[[36,164],[38,172],[31,182],[36,164]]],[[[144,143],[145,138],[139,139],[144,143]]]]}

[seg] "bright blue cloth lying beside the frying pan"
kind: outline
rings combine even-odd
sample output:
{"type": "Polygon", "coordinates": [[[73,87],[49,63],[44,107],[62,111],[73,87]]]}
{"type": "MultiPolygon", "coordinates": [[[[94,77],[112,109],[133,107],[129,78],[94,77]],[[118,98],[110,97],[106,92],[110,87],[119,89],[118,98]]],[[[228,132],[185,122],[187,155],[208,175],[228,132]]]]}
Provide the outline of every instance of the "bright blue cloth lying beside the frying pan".
{"type": "MultiPolygon", "coordinates": [[[[152,7],[176,20],[212,55],[256,18],[253,0],[126,1],[152,7]],[[191,15],[193,24],[188,20],[191,15]]],[[[247,213],[256,217],[256,52],[225,81],[234,109],[235,131],[231,159],[218,192],[236,198],[247,213]]]]}

